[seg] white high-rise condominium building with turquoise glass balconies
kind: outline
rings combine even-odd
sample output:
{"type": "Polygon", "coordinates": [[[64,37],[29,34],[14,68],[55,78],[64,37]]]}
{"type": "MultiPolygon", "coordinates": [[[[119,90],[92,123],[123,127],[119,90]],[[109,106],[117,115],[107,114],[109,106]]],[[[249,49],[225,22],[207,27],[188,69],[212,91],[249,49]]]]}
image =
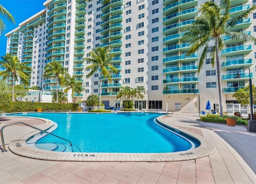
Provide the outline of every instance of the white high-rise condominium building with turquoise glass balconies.
{"type": "MultiPolygon", "coordinates": [[[[141,110],[205,110],[210,100],[212,110],[219,111],[216,66],[210,54],[198,73],[202,51],[186,56],[190,40],[182,40],[184,27],[199,16],[205,0],[47,0],[41,12],[19,24],[6,36],[7,53],[32,67],[30,86],[56,91],[55,76],[43,78],[44,66],[52,60],[63,63],[71,76],[83,82],[85,91],[74,93],[75,101],[89,95],[102,95],[105,106],[122,106],[116,98],[121,86],[144,89],[143,99],[136,102],[141,110]],[[92,48],[108,48],[114,54],[112,81],[99,72],[88,77],[92,48]]],[[[215,1],[219,3],[220,1],[215,1]]],[[[231,0],[232,17],[248,10],[255,0],[231,0]]],[[[238,22],[232,31],[256,36],[256,13],[238,22]]],[[[224,37],[220,53],[223,110],[237,103],[232,94],[253,84],[256,76],[254,42],[224,37]],[[249,69],[250,68],[250,73],[249,69]],[[237,70],[241,78],[235,78],[237,70]]],[[[212,49],[212,47],[210,47],[212,49]]],[[[210,50],[209,49],[209,50],[210,50]]],[[[62,87],[58,87],[62,90],[62,87]]],[[[68,94],[71,102],[71,92],[68,94]]],[[[240,108],[237,104],[238,109],[240,108]]]]}

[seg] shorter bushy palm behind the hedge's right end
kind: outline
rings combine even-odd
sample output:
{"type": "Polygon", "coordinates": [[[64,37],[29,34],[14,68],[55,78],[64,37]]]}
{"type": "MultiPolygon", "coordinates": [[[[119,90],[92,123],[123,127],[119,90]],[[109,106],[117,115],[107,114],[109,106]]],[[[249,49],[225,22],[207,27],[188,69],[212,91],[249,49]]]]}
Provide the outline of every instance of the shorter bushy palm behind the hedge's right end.
{"type": "Polygon", "coordinates": [[[64,87],[67,87],[64,90],[65,93],[67,93],[68,90],[72,90],[72,93],[71,93],[72,102],[73,102],[74,92],[78,92],[78,94],[80,94],[80,92],[84,91],[84,88],[82,86],[82,82],[77,81],[74,76],[71,77],[70,75],[66,75],[66,78],[64,78],[60,82],[60,85],[64,86],[64,87]]]}

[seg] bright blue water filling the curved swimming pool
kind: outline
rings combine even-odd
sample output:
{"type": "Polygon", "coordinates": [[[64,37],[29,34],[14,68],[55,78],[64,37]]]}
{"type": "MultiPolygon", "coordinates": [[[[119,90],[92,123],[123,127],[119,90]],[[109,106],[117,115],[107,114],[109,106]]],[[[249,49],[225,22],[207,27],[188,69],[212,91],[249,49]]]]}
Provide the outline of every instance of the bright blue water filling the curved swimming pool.
{"type": "MultiPolygon", "coordinates": [[[[28,113],[17,116],[32,116],[50,119],[58,124],[52,132],[70,140],[73,152],[126,152],[157,153],[178,152],[191,148],[190,142],[165,130],[154,122],[162,114],[150,113],[28,113]]],[[[198,142],[193,141],[196,146],[198,142]]],[[[47,135],[36,142],[68,142],[47,135]]],[[[63,151],[58,150],[56,151],[63,151]]],[[[70,149],[66,149],[70,151],[70,149]]]]}

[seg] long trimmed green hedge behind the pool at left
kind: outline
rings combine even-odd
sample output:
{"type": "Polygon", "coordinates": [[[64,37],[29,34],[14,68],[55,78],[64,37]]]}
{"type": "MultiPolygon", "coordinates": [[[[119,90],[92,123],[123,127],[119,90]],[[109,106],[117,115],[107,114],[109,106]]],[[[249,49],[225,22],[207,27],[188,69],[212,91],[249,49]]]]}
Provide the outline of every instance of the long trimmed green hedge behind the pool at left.
{"type": "Polygon", "coordinates": [[[62,104],[62,103],[44,103],[44,102],[12,102],[9,108],[4,108],[1,111],[6,113],[11,112],[35,112],[38,106],[42,107],[42,111],[50,110],[71,110],[77,111],[78,104],[62,104]]]}

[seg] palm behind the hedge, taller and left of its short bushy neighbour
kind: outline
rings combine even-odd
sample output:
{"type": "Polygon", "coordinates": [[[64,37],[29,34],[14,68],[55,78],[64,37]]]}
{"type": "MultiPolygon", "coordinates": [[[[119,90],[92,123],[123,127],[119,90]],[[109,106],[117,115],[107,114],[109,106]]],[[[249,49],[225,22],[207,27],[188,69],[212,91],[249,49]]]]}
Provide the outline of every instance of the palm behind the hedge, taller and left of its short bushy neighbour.
{"type": "MultiPolygon", "coordinates": [[[[56,96],[58,96],[58,78],[62,80],[64,75],[68,75],[67,68],[61,64],[61,62],[52,60],[52,62],[48,62],[44,67],[44,77],[48,77],[51,75],[55,75],[56,77],[56,96]]],[[[58,103],[58,98],[56,98],[56,103],[58,103]]]]}

